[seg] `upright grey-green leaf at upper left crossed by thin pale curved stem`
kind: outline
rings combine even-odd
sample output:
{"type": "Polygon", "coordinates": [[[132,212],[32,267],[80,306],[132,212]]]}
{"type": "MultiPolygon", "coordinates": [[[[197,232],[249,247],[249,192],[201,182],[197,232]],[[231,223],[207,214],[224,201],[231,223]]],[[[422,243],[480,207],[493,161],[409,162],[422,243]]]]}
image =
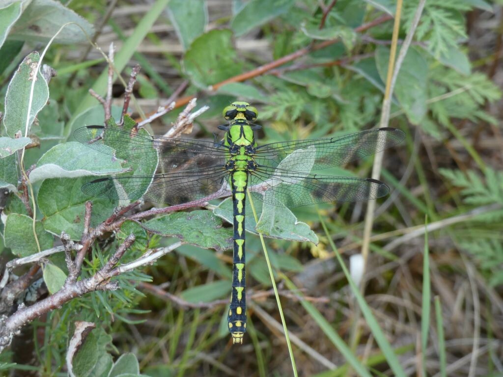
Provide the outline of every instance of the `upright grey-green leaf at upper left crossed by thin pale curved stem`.
{"type": "MultiPolygon", "coordinates": [[[[16,73],[14,73],[11,82],[9,82],[9,87],[7,88],[7,94],[5,96],[4,126],[7,135],[10,137],[15,137],[18,131],[20,131],[22,135],[25,134],[31,85],[39,60],[40,55],[38,52],[32,52],[26,56],[19,65],[16,73]]],[[[31,126],[38,112],[42,110],[48,99],[49,87],[39,71],[33,90],[29,126],[31,126]]]]}

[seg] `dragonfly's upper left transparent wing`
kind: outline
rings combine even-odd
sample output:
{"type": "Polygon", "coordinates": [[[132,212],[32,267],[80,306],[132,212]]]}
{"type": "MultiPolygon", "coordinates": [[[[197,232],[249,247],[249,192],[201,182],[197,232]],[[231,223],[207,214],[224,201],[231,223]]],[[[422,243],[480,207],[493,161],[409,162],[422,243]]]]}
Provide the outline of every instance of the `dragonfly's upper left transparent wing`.
{"type": "MultiPolygon", "coordinates": [[[[162,136],[139,134],[119,128],[104,126],[81,127],[73,133],[80,143],[100,152],[120,157],[121,146],[127,148],[129,162],[138,163],[147,151],[155,148],[159,151],[159,165],[172,170],[183,165],[185,169],[223,165],[226,147],[205,140],[167,138],[162,136]],[[113,149],[111,149],[113,148],[113,149]],[[114,151],[115,150],[115,151],[114,151]],[[197,158],[196,158],[197,157],[197,158]]],[[[156,166],[157,161],[142,164],[156,166]]]]}

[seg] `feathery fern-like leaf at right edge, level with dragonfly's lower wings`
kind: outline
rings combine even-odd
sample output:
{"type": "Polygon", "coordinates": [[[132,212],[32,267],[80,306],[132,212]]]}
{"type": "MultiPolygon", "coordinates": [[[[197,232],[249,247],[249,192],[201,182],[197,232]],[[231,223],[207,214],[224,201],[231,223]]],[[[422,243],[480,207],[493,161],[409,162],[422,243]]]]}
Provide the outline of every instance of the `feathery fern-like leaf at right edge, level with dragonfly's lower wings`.
{"type": "Polygon", "coordinates": [[[465,203],[474,205],[503,204],[503,172],[487,168],[484,177],[473,170],[468,170],[466,174],[460,170],[450,169],[440,169],[440,172],[453,185],[463,187],[461,194],[465,203]]]}

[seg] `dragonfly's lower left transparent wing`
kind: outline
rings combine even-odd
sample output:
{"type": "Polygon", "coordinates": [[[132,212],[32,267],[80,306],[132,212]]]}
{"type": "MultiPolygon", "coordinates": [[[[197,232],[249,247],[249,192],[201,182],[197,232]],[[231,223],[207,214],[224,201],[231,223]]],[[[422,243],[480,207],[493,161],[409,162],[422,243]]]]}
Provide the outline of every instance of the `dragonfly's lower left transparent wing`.
{"type": "Polygon", "coordinates": [[[94,197],[137,200],[176,205],[205,198],[226,185],[228,172],[223,167],[194,169],[153,176],[125,175],[99,178],[82,186],[94,197]],[[145,188],[148,189],[145,192],[145,188]]]}

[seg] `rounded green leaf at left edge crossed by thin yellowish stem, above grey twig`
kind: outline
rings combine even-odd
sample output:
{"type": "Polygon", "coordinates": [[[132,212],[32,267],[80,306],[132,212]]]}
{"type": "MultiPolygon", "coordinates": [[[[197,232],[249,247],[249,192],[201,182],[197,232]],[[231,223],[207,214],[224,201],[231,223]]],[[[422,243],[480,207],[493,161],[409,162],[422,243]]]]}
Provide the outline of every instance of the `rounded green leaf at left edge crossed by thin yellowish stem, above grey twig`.
{"type": "MultiPolygon", "coordinates": [[[[38,242],[41,250],[52,247],[53,237],[44,230],[40,221],[35,223],[38,242]]],[[[33,219],[20,214],[10,214],[5,221],[4,242],[12,252],[19,257],[25,257],[37,253],[37,242],[33,235],[33,219]]]]}

